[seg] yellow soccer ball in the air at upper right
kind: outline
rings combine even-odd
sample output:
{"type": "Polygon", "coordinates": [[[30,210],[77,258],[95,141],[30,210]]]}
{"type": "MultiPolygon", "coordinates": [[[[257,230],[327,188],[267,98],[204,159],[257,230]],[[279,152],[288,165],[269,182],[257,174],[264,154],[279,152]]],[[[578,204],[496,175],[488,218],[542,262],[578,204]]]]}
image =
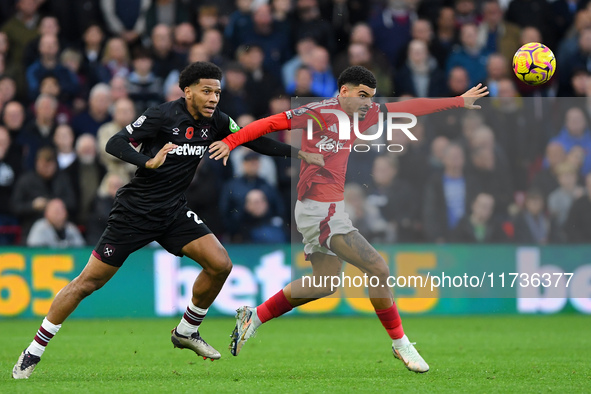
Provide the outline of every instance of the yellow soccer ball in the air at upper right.
{"type": "Polygon", "coordinates": [[[528,85],[541,85],[552,78],[556,71],[556,58],[544,44],[530,42],[513,56],[513,72],[528,85]]]}

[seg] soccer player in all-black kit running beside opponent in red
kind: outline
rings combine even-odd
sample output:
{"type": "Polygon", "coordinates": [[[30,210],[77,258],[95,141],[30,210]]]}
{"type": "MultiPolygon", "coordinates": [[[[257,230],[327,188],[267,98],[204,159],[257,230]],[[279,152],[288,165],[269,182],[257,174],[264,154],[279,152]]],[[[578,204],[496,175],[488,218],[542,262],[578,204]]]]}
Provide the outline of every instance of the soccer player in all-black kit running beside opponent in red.
{"type": "MultiPolygon", "coordinates": [[[[191,302],[172,330],[172,343],[204,359],[220,358],[198,329],[228,277],[232,262],[199,216],[187,207],[184,193],[209,145],[240,129],[217,109],[221,79],[222,71],[212,63],[190,64],[179,78],[185,98],[149,108],[109,140],[108,153],[138,166],[135,177],[117,193],[107,228],[88,264],[56,295],[34,340],[14,366],[13,378],[31,376],[48,342],[80,301],[107,283],[131,253],[152,241],[203,267],[193,285],[191,302]],[[141,143],[141,151],[130,143],[141,143]]],[[[319,154],[301,152],[270,139],[254,140],[245,146],[266,155],[297,155],[323,165],[319,154]]]]}

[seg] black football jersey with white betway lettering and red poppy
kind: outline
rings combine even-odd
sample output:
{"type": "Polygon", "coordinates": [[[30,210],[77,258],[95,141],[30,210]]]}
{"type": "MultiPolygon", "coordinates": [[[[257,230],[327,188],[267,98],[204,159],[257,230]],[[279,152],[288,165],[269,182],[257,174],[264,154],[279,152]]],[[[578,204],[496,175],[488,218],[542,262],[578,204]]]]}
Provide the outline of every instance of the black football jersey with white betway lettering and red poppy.
{"type": "MultiPolygon", "coordinates": [[[[185,190],[201,159],[208,154],[209,145],[238,130],[236,122],[217,108],[212,118],[195,120],[184,98],[148,108],[107,144],[107,152],[138,166],[131,181],[117,192],[117,201],[133,213],[154,219],[176,215],[186,205],[185,190]],[[140,152],[129,143],[141,144],[140,152]],[[168,153],[159,168],[145,168],[146,162],[167,143],[178,147],[168,153]]],[[[267,138],[245,146],[273,156],[289,157],[294,152],[291,146],[267,138]]]]}

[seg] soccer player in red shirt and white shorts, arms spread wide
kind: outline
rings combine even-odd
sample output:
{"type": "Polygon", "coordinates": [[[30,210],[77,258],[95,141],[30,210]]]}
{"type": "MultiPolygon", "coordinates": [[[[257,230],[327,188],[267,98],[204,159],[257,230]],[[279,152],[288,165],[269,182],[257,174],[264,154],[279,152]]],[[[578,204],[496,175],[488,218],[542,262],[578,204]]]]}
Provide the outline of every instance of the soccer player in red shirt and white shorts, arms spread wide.
{"type": "MultiPolygon", "coordinates": [[[[376,85],[375,76],[369,70],[360,66],[349,67],[339,76],[338,97],[253,122],[222,141],[214,142],[210,152],[216,160],[221,158],[227,160],[229,152],[236,146],[263,134],[305,128],[301,127],[299,122],[296,122],[298,124],[294,122],[307,120],[307,117],[302,116],[307,112],[315,117],[318,115],[322,117],[324,124],[312,122],[314,128],[311,139],[308,139],[307,133],[304,133],[302,151],[322,153],[324,167],[302,163],[297,185],[298,201],[295,207],[296,224],[304,238],[304,251],[312,263],[313,275],[338,276],[342,269],[342,261],[347,261],[368,276],[379,278],[379,283],[384,286],[370,287],[369,298],[378,318],[392,339],[394,356],[402,360],[411,371],[427,372],[429,365],[404,334],[391,290],[385,285],[390,275],[387,263],[353,227],[345,212],[343,201],[345,173],[347,160],[355,141],[354,138],[340,139],[338,115],[327,113],[326,110],[340,110],[350,118],[357,113],[358,131],[364,133],[378,123],[381,111],[420,116],[451,108],[477,109],[480,107],[474,105],[474,102],[486,96],[488,91],[486,87],[478,85],[459,97],[413,99],[379,105],[372,101],[376,93],[376,85]]],[[[305,125],[304,122],[302,124],[305,125]]],[[[258,307],[239,308],[230,344],[232,354],[238,355],[244,343],[252,337],[261,324],[289,312],[294,307],[328,296],[333,292],[334,289],[329,287],[304,289],[302,279],[297,279],[258,307]]]]}

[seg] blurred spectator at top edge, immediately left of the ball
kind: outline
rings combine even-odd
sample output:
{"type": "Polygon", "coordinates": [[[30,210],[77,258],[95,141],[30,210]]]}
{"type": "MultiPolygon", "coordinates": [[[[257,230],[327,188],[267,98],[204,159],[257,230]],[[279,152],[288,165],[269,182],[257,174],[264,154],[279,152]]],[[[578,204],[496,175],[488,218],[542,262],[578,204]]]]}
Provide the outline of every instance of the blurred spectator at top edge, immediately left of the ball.
{"type": "Polygon", "coordinates": [[[503,20],[503,10],[498,0],[487,0],[482,5],[482,23],[478,26],[478,41],[489,53],[497,52],[509,66],[509,59],[519,49],[521,29],[503,20]]]}

